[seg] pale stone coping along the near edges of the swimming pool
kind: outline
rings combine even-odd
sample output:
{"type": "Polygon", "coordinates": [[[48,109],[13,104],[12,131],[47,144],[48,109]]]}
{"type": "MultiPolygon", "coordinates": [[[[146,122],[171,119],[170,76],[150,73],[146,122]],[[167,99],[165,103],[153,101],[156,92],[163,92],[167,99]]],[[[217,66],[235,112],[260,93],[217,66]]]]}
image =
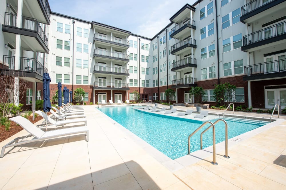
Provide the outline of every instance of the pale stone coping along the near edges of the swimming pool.
{"type": "MultiPolygon", "coordinates": [[[[96,109],[97,109],[97,107],[96,107],[96,109]]],[[[100,109],[98,109],[98,110],[100,111],[100,109]]],[[[182,110],[182,111],[184,111],[184,110],[182,110]]],[[[102,111],[100,111],[100,112],[102,112],[102,111]]],[[[104,114],[104,117],[106,119],[112,120],[112,122],[114,123],[114,126],[117,126],[124,134],[126,134],[129,138],[131,138],[140,148],[145,150],[155,160],[160,162],[160,164],[162,164],[163,166],[165,166],[167,169],[169,169],[172,172],[178,171],[178,170],[180,170],[186,166],[189,166],[191,164],[194,164],[196,162],[199,162],[201,160],[204,160],[205,158],[212,156],[212,146],[209,146],[209,147],[204,148],[202,150],[197,150],[195,152],[192,152],[189,155],[182,156],[180,158],[172,160],[171,158],[169,158],[168,156],[166,156],[165,154],[163,154],[162,152],[160,152],[159,150],[157,150],[156,148],[154,148],[153,146],[148,144],[146,141],[142,140],[139,136],[132,133],[130,130],[128,130],[127,128],[125,128],[124,126],[122,126],[121,124],[119,124],[118,122],[113,120],[112,118],[110,118],[108,115],[106,115],[105,113],[103,113],[103,114],[104,114]]],[[[230,115],[230,114],[228,114],[228,115],[230,115]]],[[[230,116],[238,116],[237,118],[245,119],[241,115],[230,115],[230,116]]],[[[229,116],[227,116],[227,117],[229,117],[229,116]]],[[[255,120],[264,120],[264,119],[266,120],[266,118],[261,118],[261,117],[248,117],[248,118],[254,118],[255,120]]],[[[276,125],[279,125],[281,122],[285,121],[283,119],[277,119],[277,118],[275,118],[275,119],[273,119],[275,121],[273,121],[271,123],[268,123],[268,124],[263,125],[261,127],[255,128],[251,131],[245,132],[243,134],[240,134],[238,136],[235,136],[233,138],[228,139],[228,150],[231,147],[239,144],[243,140],[246,140],[246,139],[248,139],[248,138],[250,138],[256,134],[259,134],[259,133],[261,133],[261,132],[263,132],[269,128],[272,128],[276,125]]],[[[269,119],[266,121],[269,121],[269,119]]],[[[218,156],[220,156],[221,158],[224,158],[223,155],[218,154],[221,152],[223,152],[223,154],[225,154],[224,153],[225,152],[225,141],[222,141],[222,142],[219,142],[216,144],[216,158],[218,156]]],[[[228,155],[228,156],[231,157],[231,155],[228,155]]],[[[224,159],[227,159],[227,158],[224,158],[224,159]]],[[[212,160],[207,160],[207,161],[212,162],[212,160]]]]}

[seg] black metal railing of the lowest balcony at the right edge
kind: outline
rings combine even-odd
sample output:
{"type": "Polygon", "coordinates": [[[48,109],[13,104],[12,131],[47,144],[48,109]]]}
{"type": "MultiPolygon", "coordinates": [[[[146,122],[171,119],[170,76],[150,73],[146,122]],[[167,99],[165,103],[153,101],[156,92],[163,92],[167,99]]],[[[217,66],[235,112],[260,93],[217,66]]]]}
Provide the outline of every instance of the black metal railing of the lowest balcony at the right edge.
{"type": "Polygon", "coordinates": [[[244,67],[244,76],[261,75],[275,72],[286,71],[286,59],[275,60],[271,62],[259,63],[244,67]]]}

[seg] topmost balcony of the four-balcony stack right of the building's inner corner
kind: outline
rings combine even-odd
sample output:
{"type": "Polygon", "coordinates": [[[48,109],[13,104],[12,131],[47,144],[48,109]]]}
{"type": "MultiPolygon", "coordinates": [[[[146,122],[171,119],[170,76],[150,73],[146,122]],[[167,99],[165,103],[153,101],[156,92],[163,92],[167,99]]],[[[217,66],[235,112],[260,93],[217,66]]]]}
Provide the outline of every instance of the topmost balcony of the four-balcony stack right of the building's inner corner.
{"type": "Polygon", "coordinates": [[[185,18],[174,28],[171,29],[172,34],[170,35],[170,37],[179,38],[180,36],[184,36],[185,34],[190,34],[192,28],[196,29],[195,21],[191,20],[190,18],[185,18]]]}

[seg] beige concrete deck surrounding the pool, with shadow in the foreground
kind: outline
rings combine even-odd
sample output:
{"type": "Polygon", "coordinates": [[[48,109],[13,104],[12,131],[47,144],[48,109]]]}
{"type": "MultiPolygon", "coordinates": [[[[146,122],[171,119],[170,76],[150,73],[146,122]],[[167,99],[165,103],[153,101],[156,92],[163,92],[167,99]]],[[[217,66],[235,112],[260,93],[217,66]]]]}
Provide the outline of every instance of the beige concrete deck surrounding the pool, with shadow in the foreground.
{"type": "Polygon", "coordinates": [[[223,157],[224,142],[217,144],[214,166],[211,147],[170,160],[96,108],[84,106],[89,142],[81,134],[7,148],[0,158],[0,189],[286,189],[285,115],[229,139],[230,159],[223,157]]]}

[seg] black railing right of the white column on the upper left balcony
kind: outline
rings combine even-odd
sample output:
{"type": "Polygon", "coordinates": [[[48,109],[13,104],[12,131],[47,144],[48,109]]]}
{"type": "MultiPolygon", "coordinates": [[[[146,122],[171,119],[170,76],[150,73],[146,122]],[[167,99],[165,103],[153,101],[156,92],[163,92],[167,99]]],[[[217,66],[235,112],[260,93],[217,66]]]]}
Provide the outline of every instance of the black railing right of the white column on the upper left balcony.
{"type": "Polygon", "coordinates": [[[40,37],[42,38],[42,40],[48,47],[48,38],[45,35],[45,32],[43,31],[37,19],[22,16],[22,28],[38,32],[38,34],[40,35],[40,37]]]}

